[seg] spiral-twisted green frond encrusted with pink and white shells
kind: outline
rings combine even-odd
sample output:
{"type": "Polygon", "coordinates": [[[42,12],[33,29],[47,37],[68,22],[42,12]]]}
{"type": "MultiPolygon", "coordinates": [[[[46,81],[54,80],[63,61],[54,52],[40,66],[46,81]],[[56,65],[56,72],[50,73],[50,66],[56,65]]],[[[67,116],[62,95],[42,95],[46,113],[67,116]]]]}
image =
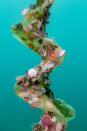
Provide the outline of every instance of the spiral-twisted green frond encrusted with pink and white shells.
{"type": "Polygon", "coordinates": [[[62,100],[56,100],[49,89],[49,73],[63,63],[65,50],[47,37],[49,9],[54,0],[37,0],[22,11],[24,18],[11,27],[12,34],[24,45],[38,53],[42,61],[17,77],[15,93],[31,105],[43,109],[41,121],[33,131],[64,131],[67,120],[75,115],[74,109],[62,100]]]}

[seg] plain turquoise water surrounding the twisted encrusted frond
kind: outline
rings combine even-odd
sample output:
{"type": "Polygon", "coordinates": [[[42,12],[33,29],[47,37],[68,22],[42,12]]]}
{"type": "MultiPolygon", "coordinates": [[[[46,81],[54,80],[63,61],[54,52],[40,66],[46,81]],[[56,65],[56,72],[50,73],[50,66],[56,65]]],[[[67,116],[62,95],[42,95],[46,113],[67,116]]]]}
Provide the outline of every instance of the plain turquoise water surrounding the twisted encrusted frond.
{"type": "MultiPolygon", "coordinates": [[[[41,58],[10,34],[21,10],[35,0],[0,0],[0,131],[32,131],[41,110],[31,109],[14,94],[16,76],[41,58]]],[[[87,131],[87,0],[55,0],[49,37],[66,50],[64,63],[51,74],[52,90],[76,110],[67,131],[87,131]]]]}

